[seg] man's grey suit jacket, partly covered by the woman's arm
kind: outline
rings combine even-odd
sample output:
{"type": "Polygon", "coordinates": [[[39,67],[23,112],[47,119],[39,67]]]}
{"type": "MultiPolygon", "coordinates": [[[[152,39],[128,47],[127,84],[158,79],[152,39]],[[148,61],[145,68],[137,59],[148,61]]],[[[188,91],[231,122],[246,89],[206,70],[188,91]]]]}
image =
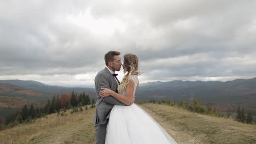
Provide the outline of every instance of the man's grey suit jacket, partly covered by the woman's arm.
{"type": "Polygon", "coordinates": [[[118,83],[115,81],[115,77],[110,73],[108,68],[104,68],[95,77],[95,89],[97,93],[96,100],[96,113],[94,117],[95,124],[104,124],[110,116],[110,111],[114,105],[126,105],[112,96],[101,98],[99,92],[101,88],[109,88],[114,92],[117,92],[118,83]]]}

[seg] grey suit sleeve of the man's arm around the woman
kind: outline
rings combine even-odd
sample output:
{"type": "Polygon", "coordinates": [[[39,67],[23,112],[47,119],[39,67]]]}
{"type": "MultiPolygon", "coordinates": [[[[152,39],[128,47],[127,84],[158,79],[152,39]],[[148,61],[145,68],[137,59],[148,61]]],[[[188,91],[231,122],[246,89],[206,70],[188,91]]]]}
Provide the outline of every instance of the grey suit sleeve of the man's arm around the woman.
{"type": "MultiPolygon", "coordinates": [[[[97,78],[95,79],[95,84],[97,86],[97,94],[102,90],[101,88],[110,88],[108,78],[102,74],[97,75],[97,78]]],[[[112,96],[103,98],[103,101],[105,103],[112,104],[112,105],[125,105],[126,106],[126,104],[121,103],[121,101],[115,99],[112,96]]]]}

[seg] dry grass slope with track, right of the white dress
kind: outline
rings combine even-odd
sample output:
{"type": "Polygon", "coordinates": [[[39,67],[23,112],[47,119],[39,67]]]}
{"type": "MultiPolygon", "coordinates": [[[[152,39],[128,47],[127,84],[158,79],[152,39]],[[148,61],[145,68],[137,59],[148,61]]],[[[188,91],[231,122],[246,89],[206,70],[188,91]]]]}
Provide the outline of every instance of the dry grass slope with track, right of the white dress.
{"type": "Polygon", "coordinates": [[[256,125],[200,115],[177,107],[142,104],[178,143],[256,143],[256,125]],[[186,135],[187,138],[182,135],[186,135]]]}

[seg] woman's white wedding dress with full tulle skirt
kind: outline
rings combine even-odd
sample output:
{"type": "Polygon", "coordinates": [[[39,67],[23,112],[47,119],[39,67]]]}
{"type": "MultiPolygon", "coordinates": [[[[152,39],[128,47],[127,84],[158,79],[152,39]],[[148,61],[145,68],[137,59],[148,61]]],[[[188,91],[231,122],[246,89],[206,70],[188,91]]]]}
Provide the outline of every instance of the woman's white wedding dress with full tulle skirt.
{"type": "MultiPolygon", "coordinates": [[[[138,77],[132,75],[131,80],[135,83],[136,91],[138,77]]],[[[132,104],[131,106],[114,105],[110,112],[105,143],[165,144],[176,143],[176,141],[146,111],[132,104]]]]}

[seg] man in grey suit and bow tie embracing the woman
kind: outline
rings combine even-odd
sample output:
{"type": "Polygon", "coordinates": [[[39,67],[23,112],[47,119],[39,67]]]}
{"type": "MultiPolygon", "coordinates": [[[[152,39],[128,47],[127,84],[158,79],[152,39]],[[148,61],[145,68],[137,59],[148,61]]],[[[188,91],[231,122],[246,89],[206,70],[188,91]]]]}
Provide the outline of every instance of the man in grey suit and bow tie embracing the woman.
{"type": "MultiPolygon", "coordinates": [[[[115,71],[121,69],[121,58],[120,52],[109,51],[105,54],[105,63],[106,68],[98,72],[95,77],[95,89],[97,92],[97,101],[96,101],[96,113],[94,117],[95,131],[96,131],[96,144],[104,144],[106,133],[107,133],[107,124],[110,116],[110,111],[114,105],[125,105],[114,97],[104,97],[99,96],[101,88],[109,88],[114,92],[118,92],[117,88],[120,85],[119,80],[117,79],[117,74],[115,71]]],[[[132,100],[131,104],[134,103],[132,100]]]]}

